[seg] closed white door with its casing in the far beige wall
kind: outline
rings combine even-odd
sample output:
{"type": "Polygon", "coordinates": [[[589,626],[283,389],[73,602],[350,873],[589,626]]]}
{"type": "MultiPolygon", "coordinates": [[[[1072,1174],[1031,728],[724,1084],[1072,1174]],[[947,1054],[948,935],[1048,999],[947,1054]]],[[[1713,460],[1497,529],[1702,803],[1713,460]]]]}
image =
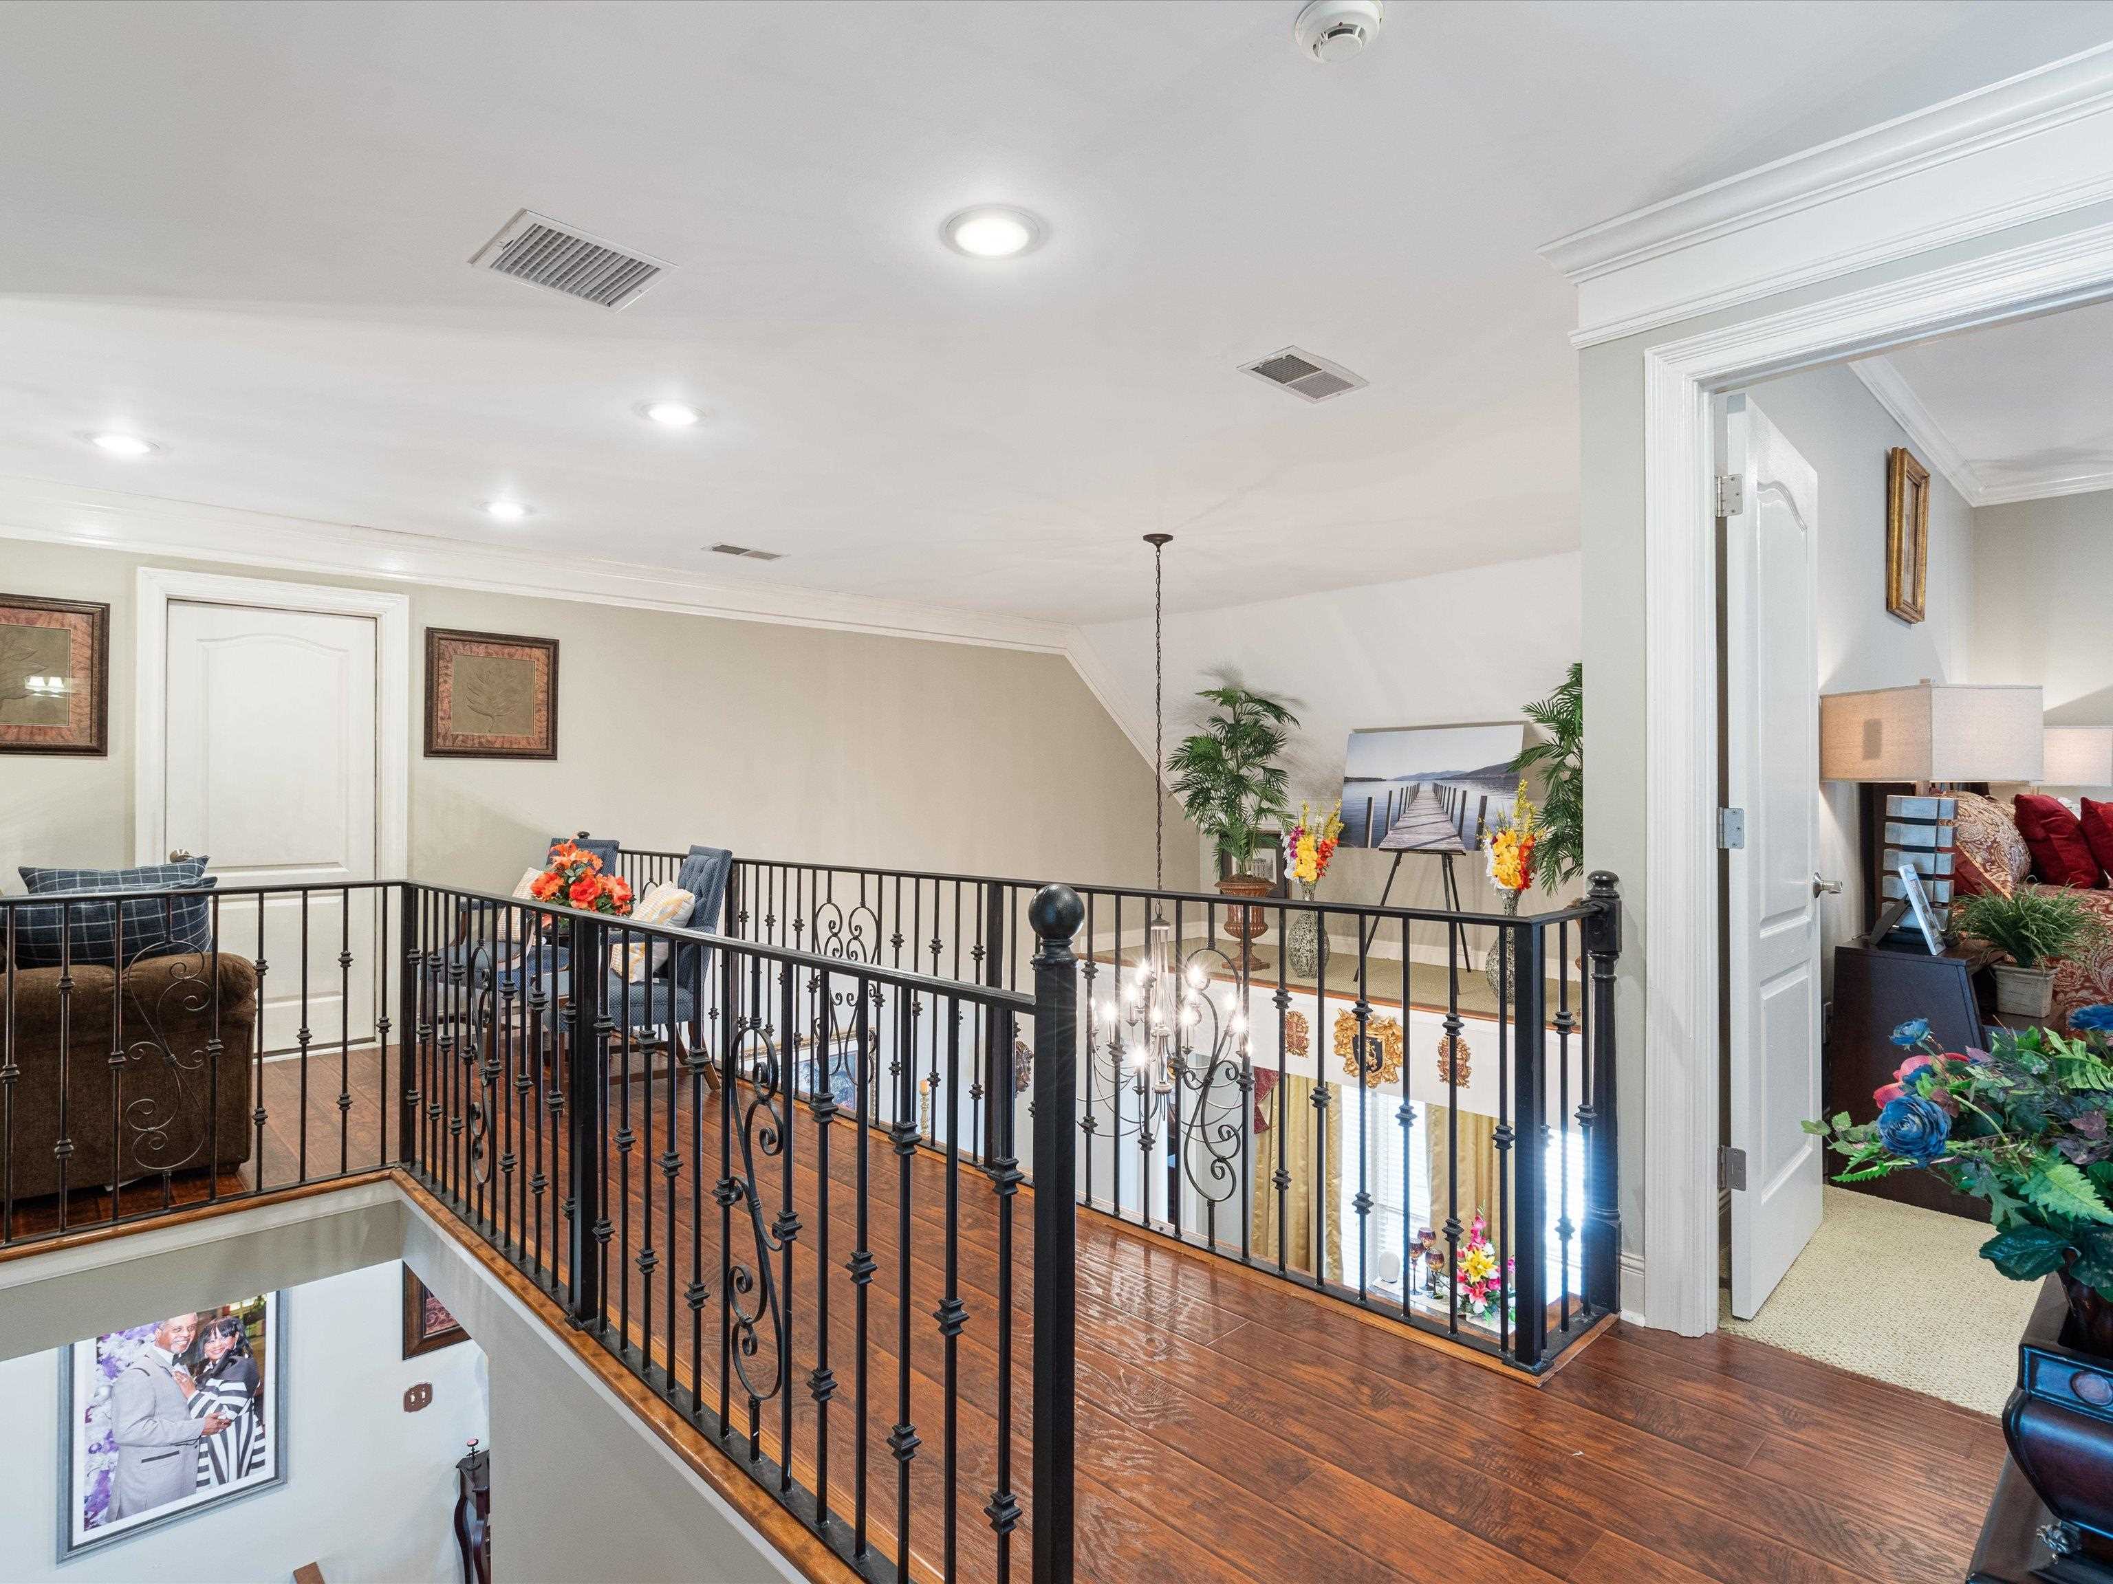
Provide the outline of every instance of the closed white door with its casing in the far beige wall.
{"type": "Polygon", "coordinates": [[[224,891],[313,887],[226,895],[222,946],[268,965],[264,1050],[372,1039],[385,902],[342,885],[401,874],[408,602],[158,568],[139,583],[137,860],[186,849],[224,891]]]}

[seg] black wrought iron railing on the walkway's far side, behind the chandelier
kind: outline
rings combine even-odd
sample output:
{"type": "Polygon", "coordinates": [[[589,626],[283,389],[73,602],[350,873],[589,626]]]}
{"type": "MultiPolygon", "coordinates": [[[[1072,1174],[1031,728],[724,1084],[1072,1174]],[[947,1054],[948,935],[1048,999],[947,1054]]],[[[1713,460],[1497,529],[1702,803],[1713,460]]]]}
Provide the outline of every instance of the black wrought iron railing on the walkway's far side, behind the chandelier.
{"type": "MultiPolygon", "coordinates": [[[[640,887],[680,862],[621,851],[640,887]]],[[[725,927],[1018,986],[1037,889],[737,860],[725,927]]],[[[1530,1371],[1619,1307],[1612,874],[1540,914],[1076,891],[1082,1204],[1530,1371]]],[[[1006,1090],[974,1069],[970,1096],[974,1153],[1006,1090]]]]}

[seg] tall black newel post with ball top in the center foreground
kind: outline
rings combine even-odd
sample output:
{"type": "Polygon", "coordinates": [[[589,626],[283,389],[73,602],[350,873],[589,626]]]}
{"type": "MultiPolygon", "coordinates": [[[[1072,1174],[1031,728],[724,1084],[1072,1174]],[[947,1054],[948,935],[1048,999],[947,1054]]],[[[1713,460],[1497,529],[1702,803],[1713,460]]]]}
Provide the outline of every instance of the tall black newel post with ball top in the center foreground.
{"type": "Polygon", "coordinates": [[[1035,931],[1035,1584],[1071,1584],[1073,1392],[1078,1379],[1078,957],[1086,904],[1044,885],[1035,931]]]}

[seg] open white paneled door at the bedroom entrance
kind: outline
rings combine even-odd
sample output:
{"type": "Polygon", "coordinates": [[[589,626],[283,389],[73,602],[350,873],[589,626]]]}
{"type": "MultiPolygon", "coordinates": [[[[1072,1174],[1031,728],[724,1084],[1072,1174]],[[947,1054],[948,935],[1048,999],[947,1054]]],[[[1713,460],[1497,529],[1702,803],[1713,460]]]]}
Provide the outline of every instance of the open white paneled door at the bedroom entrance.
{"type": "Polygon", "coordinates": [[[1819,1229],[1819,482],[1745,397],[1724,406],[1731,1307],[1752,1318],[1819,1229]],[[1739,1157],[1735,1157],[1737,1162],[1739,1157]]]}

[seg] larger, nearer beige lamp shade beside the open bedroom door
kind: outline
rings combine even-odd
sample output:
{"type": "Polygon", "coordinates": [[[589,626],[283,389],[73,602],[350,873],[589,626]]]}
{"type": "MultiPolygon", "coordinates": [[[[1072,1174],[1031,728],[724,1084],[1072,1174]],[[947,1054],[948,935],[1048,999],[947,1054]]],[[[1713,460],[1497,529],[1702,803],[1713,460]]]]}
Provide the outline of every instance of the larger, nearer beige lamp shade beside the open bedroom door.
{"type": "Polygon", "coordinates": [[[1819,699],[1821,781],[2039,781],[2037,686],[1919,682],[1819,699]]]}

